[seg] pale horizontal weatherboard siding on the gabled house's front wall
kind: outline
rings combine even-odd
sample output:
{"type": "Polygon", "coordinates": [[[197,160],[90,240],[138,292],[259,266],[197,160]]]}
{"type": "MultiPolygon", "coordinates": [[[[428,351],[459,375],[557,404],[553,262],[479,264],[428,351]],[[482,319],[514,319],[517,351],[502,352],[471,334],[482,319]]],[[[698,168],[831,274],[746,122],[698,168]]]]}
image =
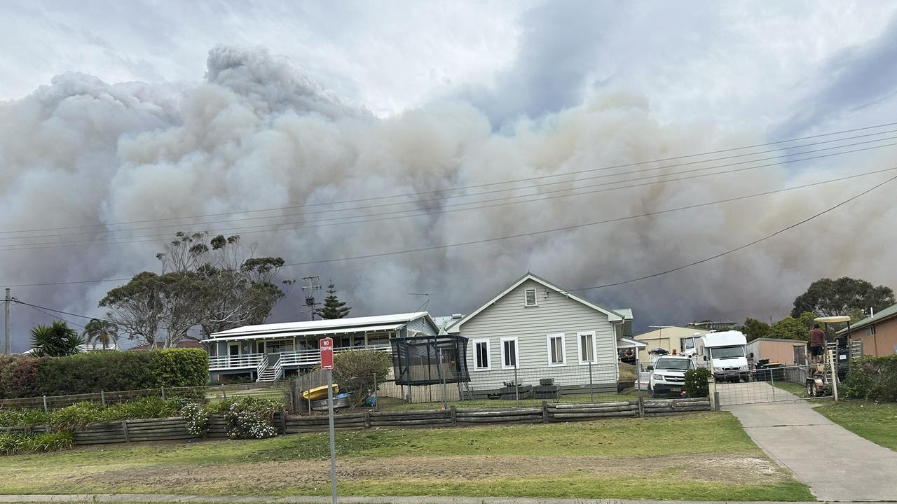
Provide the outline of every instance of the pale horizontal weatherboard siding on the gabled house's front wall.
{"type": "Polygon", "coordinates": [[[616,391],[617,354],[616,331],[607,315],[589,308],[579,301],[548,290],[539,282],[527,280],[492,306],[467,320],[459,334],[469,340],[467,367],[470,387],[475,394],[494,391],[505,381],[514,380],[514,369],[501,369],[502,338],[517,338],[518,383],[538,385],[539,378],[554,378],[562,387],[588,387],[588,365],[579,364],[578,333],[595,333],[597,363],[592,365],[596,390],[616,391]],[[524,306],[524,291],[536,289],[538,305],[524,306]],[[563,334],[566,364],[548,365],[547,335],[563,334]],[[491,369],[475,369],[473,340],[489,339],[491,369]]]}

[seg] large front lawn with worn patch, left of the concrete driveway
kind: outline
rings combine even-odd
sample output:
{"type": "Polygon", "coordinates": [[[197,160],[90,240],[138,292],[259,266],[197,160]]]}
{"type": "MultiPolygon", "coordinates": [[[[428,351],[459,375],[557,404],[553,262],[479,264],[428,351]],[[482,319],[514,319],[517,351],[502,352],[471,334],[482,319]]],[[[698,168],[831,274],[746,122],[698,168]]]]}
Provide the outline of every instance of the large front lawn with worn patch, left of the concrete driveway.
{"type": "MultiPolygon", "coordinates": [[[[0,493],[327,495],[327,454],[313,433],[7,456],[0,493]]],[[[343,495],[814,500],[729,413],[341,431],[337,454],[343,495]]]]}

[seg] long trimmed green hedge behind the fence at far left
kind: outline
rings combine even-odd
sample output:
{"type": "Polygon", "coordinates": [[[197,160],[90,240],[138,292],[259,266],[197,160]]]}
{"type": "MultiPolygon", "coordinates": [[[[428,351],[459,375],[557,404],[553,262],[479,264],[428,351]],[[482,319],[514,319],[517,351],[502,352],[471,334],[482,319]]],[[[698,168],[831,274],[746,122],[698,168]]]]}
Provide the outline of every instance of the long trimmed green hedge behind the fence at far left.
{"type": "Polygon", "coordinates": [[[196,348],[0,359],[0,398],[7,399],[158,387],[199,387],[205,385],[208,379],[208,356],[196,348]]]}

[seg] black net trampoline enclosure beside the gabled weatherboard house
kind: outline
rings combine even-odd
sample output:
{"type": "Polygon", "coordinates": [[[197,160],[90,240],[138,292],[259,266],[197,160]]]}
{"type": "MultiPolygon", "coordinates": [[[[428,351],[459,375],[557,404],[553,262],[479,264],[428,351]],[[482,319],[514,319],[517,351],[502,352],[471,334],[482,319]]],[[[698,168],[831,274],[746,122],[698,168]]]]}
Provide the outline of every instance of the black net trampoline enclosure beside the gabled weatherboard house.
{"type": "Polygon", "coordinates": [[[436,385],[470,381],[467,338],[412,336],[392,340],[396,385],[436,385]]]}

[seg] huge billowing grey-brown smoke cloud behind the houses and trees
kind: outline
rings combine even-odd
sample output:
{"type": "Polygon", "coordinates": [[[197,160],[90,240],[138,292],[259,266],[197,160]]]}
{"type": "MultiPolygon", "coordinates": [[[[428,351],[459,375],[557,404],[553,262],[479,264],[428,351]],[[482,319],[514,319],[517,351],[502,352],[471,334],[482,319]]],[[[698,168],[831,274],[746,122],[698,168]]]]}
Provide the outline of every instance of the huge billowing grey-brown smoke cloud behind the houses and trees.
{"type": "MultiPolygon", "coordinates": [[[[651,213],[893,162],[893,151],[881,149],[507,204],[741,160],[587,170],[769,140],[762,132],[712,124],[660,124],[649,98],[621,89],[501,127],[461,100],[374,117],[262,49],[213,48],[199,85],[109,84],[61,74],[21,100],[0,103],[0,281],[74,282],[159,271],[155,254],[177,230],[239,234],[257,242],[260,255],[301,263],[651,213]],[[538,178],[561,173],[578,174],[538,178]],[[521,179],[529,180],[483,186],[521,179]],[[559,181],[566,182],[544,185],[559,181]],[[477,187],[448,190],[471,186],[477,187]],[[396,195],[405,196],[378,199],[396,195]],[[457,197],[462,195],[473,196],[457,197]],[[509,196],[519,197],[498,199],[509,196]],[[459,210],[483,200],[492,203],[459,210]],[[250,212],[274,208],[283,209],[250,212]],[[200,215],[213,216],[158,221],[200,215]],[[12,232],[22,230],[35,231],[12,232]]],[[[569,289],[655,273],[759,238],[886,177],[520,239],[288,267],[283,278],[332,279],[353,315],[420,308],[425,298],[411,292],[430,293],[433,313],[469,312],[527,270],[569,289]]],[[[609,308],[633,308],[638,329],[705,317],[781,317],[822,276],[846,274],[894,286],[893,195],[894,187],[883,187],[757,247],[584,295],[609,308]]],[[[17,287],[13,295],[101,315],[97,301],[115,285],[17,287]]],[[[300,298],[294,291],[272,319],[308,317],[300,298]]],[[[31,325],[49,320],[13,307],[13,349],[27,347],[31,325]]]]}

